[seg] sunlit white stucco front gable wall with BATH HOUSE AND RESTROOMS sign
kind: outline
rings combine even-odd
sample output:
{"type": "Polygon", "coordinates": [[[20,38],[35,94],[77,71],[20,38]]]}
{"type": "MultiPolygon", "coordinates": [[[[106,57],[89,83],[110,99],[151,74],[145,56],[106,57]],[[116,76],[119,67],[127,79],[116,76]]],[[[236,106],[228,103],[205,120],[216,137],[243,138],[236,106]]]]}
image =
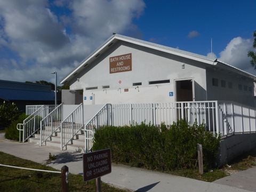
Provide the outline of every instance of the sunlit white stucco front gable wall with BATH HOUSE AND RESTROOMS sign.
{"type": "Polygon", "coordinates": [[[75,81],[70,85],[70,89],[83,89],[84,104],[88,105],[173,102],[175,80],[187,78],[195,82],[195,100],[206,100],[206,73],[202,63],[122,42],[101,54],[96,62],[90,63],[84,73],[74,78],[75,81]],[[128,53],[132,54],[132,70],[110,74],[109,58],[128,53]],[[182,65],[185,68],[182,69],[182,65]],[[149,85],[151,81],[167,79],[170,79],[170,83],[149,85]],[[133,86],[133,83],[142,83],[142,85],[137,87],[133,86]],[[102,86],[109,88],[103,89],[102,86]],[[86,90],[88,87],[98,87],[98,89],[86,90]],[[169,92],[173,92],[173,96],[170,96],[169,92]]]}

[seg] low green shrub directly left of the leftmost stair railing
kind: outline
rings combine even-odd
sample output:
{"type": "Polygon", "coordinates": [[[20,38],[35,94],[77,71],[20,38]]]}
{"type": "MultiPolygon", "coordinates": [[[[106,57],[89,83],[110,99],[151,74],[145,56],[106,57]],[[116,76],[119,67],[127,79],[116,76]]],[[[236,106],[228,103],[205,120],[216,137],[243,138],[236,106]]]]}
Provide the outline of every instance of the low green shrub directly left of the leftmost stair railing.
{"type": "Polygon", "coordinates": [[[17,124],[23,123],[24,119],[26,119],[27,117],[28,115],[23,113],[19,116],[17,120],[13,121],[10,126],[5,129],[5,138],[19,141],[20,133],[19,130],[17,130],[17,124]]]}

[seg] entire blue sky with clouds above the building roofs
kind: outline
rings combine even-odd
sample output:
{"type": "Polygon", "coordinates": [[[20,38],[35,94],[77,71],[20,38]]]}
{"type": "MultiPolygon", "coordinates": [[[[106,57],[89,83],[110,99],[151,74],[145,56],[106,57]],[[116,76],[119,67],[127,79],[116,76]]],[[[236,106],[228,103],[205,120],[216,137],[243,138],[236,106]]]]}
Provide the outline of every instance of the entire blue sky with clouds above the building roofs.
{"type": "Polygon", "coordinates": [[[113,33],[211,55],[256,75],[255,0],[1,0],[0,79],[58,82],[113,33]],[[212,42],[212,46],[211,46],[212,42]]]}

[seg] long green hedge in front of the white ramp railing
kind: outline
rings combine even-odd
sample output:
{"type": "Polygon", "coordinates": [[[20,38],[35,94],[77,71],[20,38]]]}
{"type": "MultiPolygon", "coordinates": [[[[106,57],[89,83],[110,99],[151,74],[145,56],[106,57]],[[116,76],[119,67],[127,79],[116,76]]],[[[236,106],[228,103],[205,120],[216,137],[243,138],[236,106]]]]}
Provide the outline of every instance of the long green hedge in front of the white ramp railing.
{"type": "Polygon", "coordinates": [[[112,161],[151,170],[197,167],[197,143],[203,146],[204,169],[215,166],[220,136],[205,131],[205,125],[192,126],[178,121],[166,128],[153,125],[103,126],[95,130],[93,150],[110,148],[112,161]]]}

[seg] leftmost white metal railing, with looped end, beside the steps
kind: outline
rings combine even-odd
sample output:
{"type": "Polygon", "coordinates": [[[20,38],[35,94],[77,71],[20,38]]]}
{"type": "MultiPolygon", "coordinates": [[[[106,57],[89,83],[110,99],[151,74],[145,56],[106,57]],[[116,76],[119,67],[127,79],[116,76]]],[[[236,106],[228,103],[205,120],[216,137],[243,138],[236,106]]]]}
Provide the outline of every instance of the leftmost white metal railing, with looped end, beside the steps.
{"type": "Polygon", "coordinates": [[[26,114],[29,115],[23,123],[17,125],[20,132],[20,142],[27,141],[40,129],[40,121],[54,109],[52,105],[26,106],[26,114]]]}

